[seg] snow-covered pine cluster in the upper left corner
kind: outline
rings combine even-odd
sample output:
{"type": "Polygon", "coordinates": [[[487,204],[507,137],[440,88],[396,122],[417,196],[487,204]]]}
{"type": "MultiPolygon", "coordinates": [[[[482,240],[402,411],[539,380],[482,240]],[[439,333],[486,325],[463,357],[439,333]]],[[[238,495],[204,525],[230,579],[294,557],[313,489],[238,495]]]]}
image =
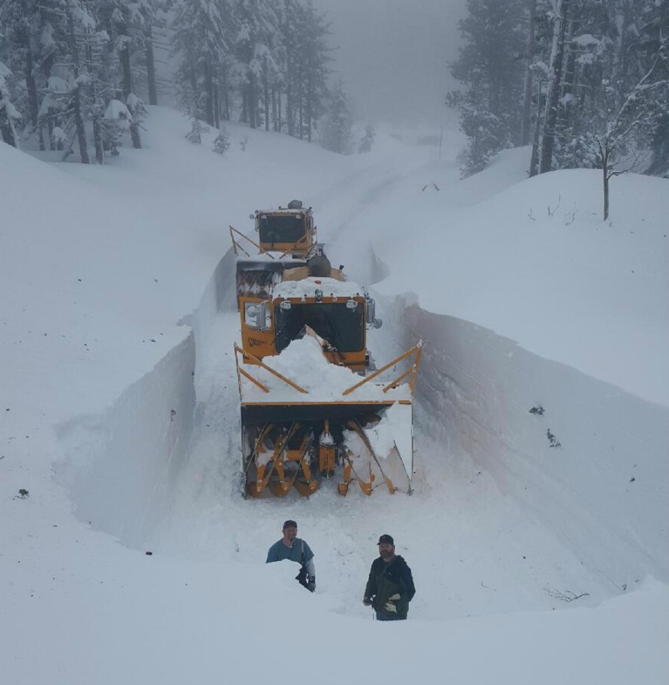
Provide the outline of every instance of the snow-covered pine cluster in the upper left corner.
{"type": "Polygon", "coordinates": [[[129,131],[141,147],[136,89],[157,101],[153,29],[168,0],[1,0],[0,132],[97,162],[129,131]]]}

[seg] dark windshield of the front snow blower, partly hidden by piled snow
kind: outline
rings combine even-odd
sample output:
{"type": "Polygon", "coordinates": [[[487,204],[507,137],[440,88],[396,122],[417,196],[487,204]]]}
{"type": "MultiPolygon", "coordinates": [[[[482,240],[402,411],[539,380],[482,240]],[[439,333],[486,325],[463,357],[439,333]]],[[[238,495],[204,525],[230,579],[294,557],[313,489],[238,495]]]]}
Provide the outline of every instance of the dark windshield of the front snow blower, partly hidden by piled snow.
{"type": "Polygon", "coordinates": [[[346,302],[293,304],[275,307],[277,352],[285,349],[309,326],[340,352],[359,351],[364,346],[364,307],[346,307],[346,302]]]}

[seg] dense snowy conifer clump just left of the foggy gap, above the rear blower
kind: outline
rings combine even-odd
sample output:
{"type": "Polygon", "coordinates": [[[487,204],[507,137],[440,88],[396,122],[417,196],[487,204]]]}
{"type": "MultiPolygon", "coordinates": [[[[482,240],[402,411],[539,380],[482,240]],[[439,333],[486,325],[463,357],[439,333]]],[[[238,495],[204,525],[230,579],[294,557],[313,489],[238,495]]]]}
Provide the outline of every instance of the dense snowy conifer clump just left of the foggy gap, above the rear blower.
{"type": "Polygon", "coordinates": [[[314,140],[332,98],[329,29],[311,0],[181,0],[172,27],[191,116],[314,140]]]}

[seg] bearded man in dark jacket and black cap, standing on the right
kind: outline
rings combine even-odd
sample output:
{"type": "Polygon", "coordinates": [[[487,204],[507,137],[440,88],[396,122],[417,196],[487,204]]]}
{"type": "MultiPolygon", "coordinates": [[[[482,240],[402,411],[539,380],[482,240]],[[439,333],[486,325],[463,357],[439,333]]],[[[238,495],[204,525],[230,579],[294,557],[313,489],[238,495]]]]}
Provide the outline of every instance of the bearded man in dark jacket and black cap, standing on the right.
{"type": "Polygon", "coordinates": [[[379,621],[403,621],[416,588],[407,562],[395,554],[390,535],[379,538],[379,557],[372,562],[362,603],[374,607],[379,621]]]}

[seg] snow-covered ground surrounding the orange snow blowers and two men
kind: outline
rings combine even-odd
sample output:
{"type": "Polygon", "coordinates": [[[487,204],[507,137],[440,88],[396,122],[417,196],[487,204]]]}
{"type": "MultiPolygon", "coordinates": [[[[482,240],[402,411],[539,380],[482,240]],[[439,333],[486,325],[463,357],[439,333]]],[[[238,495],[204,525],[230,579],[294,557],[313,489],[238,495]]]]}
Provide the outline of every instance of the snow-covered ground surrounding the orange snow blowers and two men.
{"type": "Polygon", "coordinates": [[[524,150],[461,182],[411,136],[229,130],[221,158],[151,108],[103,167],[0,145],[2,682],[668,682],[668,182],[614,179],[605,224],[598,173],[524,150]],[[413,497],[239,495],[227,226],[294,197],[373,286],[377,362],[425,340],[413,497]],[[264,564],[289,517],[315,595],[264,564]],[[418,593],[379,626],[384,532],[418,593]]]}

